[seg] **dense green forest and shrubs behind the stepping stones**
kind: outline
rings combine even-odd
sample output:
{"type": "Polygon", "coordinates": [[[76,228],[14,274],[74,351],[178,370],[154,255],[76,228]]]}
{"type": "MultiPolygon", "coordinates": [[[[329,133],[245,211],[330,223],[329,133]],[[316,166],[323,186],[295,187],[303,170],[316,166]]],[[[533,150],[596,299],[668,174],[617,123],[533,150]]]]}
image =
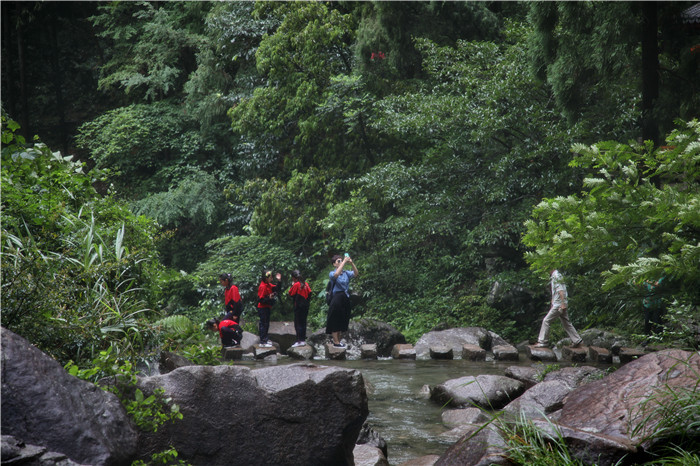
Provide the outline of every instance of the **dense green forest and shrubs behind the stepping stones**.
{"type": "Polygon", "coordinates": [[[656,338],[697,347],[692,5],[2,2],[2,325],[202,360],[220,273],[252,325],[263,269],[322,294],[348,252],[354,318],[412,341],[534,339],[558,267],[626,335],[664,277],[656,338]]]}

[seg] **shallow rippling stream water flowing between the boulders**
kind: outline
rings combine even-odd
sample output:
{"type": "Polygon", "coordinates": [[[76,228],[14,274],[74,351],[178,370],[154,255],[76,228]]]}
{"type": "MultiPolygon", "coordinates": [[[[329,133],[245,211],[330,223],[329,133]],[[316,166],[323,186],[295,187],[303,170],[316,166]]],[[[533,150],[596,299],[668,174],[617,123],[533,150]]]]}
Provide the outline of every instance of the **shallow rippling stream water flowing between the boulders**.
{"type": "MultiPolygon", "coordinates": [[[[283,363],[280,360],[280,363],[283,363]]],[[[289,361],[296,362],[296,361],[289,361]]],[[[331,361],[314,360],[317,365],[338,366],[362,372],[367,385],[369,425],[387,442],[389,463],[424,455],[441,455],[455,442],[441,436],[449,429],[442,424],[443,407],[431,401],[426,385],[438,385],[449,379],[481,374],[504,375],[512,365],[532,365],[521,355],[519,362],[474,362],[457,360],[331,361]]],[[[253,363],[262,367],[269,363],[253,363]]],[[[567,365],[559,362],[560,366],[567,365]]]]}

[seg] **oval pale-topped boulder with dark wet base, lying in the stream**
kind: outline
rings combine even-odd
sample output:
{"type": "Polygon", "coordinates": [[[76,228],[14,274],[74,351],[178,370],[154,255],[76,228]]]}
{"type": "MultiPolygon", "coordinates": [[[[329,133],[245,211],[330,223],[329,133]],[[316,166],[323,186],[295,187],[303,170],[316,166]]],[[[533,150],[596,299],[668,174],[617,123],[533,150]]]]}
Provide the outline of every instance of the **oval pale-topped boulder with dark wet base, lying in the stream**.
{"type": "Polygon", "coordinates": [[[502,375],[466,376],[433,387],[430,398],[457,408],[500,409],[524,390],[522,382],[502,375]]]}

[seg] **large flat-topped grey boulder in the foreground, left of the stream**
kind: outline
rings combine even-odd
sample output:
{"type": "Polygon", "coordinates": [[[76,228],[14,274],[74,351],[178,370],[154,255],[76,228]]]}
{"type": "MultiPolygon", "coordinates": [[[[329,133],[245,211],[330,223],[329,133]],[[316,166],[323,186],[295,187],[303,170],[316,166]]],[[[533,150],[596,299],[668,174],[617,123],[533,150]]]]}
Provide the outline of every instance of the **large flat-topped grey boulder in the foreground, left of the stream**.
{"type": "Polygon", "coordinates": [[[183,414],[142,434],[140,456],[172,445],[194,465],[351,465],[368,415],[362,374],[338,367],[188,366],[138,387],[163,388],[183,414]]]}

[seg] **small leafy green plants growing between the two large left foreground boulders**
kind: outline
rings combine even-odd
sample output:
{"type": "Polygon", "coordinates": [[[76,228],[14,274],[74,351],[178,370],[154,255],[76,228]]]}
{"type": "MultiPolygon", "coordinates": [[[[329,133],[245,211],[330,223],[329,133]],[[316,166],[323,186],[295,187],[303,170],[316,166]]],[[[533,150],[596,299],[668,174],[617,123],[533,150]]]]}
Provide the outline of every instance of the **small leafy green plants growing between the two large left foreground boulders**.
{"type": "Polygon", "coordinates": [[[153,395],[146,397],[136,388],[138,380],[133,364],[120,359],[113,349],[114,346],[110,346],[100,351],[87,369],[80,369],[73,361],[69,361],[65,368],[70,375],[80,379],[99,380],[103,390],[119,397],[134,425],[143,431],[156,432],[161,425],[182,419],[179,406],[165,397],[165,390],[156,389],[153,395]]]}

